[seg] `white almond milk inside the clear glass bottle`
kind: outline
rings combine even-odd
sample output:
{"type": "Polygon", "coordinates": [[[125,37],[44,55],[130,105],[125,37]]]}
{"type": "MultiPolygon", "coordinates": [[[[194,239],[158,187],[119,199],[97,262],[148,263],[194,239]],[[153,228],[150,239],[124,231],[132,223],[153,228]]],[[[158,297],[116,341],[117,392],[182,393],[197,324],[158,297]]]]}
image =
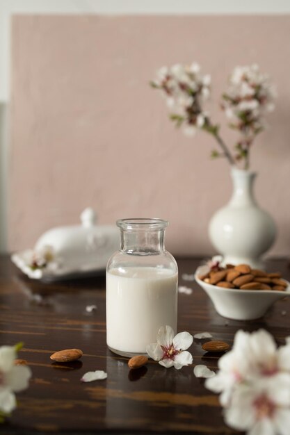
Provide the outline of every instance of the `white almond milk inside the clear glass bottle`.
{"type": "Polygon", "coordinates": [[[177,273],[169,269],[128,267],[106,274],[107,345],[144,353],[163,325],[177,331],[177,273]]]}

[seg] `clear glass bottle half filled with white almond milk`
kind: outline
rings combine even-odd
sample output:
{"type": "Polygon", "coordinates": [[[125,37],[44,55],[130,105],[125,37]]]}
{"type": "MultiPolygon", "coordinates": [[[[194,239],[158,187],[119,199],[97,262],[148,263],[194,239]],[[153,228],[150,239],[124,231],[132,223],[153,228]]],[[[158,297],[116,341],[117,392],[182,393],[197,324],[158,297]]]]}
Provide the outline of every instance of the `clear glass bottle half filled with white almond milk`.
{"type": "Polygon", "coordinates": [[[175,258],[164,248],[168,222],[122,219],[120,250],[106,268],[106,340],[123,356],[146,354],[161,326],[177,332],[175,258]]]}

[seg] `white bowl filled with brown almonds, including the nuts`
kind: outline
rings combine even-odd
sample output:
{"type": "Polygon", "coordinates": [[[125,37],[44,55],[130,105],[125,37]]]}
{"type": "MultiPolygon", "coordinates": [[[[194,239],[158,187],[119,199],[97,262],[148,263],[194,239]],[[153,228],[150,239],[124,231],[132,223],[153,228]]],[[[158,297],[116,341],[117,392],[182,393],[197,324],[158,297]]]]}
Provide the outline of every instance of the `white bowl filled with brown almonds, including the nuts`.
{"type": "Polygon", "coordinates": [[[200,266],[195,281],[209,295],[216,311],[225,318],[261,318],[278,299],[290,294],[290,284],[280,272],[264,272],[247,264],[200,266]]]}

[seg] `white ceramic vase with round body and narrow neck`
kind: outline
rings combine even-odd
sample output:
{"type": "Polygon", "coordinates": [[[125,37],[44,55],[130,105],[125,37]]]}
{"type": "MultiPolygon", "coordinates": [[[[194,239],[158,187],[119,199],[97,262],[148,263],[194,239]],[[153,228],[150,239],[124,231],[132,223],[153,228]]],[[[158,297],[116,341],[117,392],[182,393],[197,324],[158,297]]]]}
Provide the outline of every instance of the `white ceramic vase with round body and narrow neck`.
{"type": "Polygon", "coordinates": [[[255,172],[232,168],[232,198],[209,222],[209,238],[223,255],[223,263],[261,268],[261,256],[275,240],[275,222],[259,208],[253,195],[255,177],[255,172]]]}

